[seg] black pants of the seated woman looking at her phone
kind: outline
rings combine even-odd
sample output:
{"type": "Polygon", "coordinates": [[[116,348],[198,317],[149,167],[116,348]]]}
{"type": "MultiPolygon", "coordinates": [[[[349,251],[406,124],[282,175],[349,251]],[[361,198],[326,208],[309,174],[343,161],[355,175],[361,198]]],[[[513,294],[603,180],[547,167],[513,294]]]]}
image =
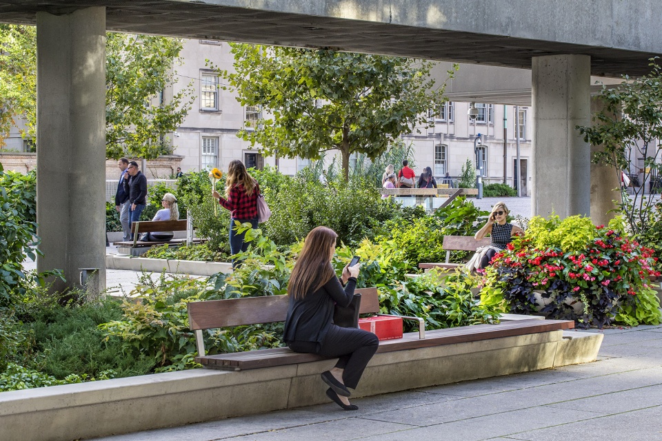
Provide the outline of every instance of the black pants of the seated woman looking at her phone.
{"type": "Polygon", "coordinates": [[[315,342],[289,342],[288,346],[295,352],[319,353],[330,358],[339,357],[336,367],[344,369],[345,387],[357,389],[365,366],[377,351],[379,339],[372,332],[363,329],[331,325],[319,349],[315,342]]]}

